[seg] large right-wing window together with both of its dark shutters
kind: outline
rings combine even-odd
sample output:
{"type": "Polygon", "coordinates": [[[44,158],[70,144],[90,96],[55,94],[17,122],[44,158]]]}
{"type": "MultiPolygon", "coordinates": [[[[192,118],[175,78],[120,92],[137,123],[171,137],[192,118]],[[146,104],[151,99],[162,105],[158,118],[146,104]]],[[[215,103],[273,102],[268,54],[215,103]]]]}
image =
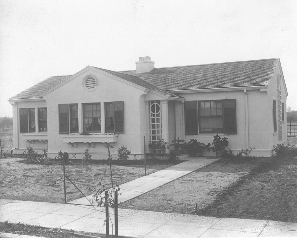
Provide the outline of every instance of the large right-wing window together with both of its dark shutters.
{"type": "Polygon", "coordinates": [[[186,101],[184,108],[186,134],[236,134],[235,99],[186,101]]]}

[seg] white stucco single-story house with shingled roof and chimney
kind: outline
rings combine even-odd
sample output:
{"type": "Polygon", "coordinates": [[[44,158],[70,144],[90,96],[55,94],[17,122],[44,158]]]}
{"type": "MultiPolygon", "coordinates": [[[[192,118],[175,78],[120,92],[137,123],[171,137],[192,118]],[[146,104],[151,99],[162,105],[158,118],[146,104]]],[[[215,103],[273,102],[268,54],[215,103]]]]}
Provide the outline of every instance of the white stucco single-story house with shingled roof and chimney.
{"type": "Polygon", "coordinates": [[[81,159],[89,148],[92,159],[107,159],[108,142],[113,158],[124,144],[130,158],[143,159],[144,137],[147,147],[178,137],[211,143],[219,134],[234,154],[255,147],[252,155],[271,156],[274,145],[287,142],[279,58],[166,68],[155,68],[150,57],[135,63],[136,70],[122,72],[87,66],[10,98],[13,152],[31,145],[51,158],[61,150],[81,159]]]}

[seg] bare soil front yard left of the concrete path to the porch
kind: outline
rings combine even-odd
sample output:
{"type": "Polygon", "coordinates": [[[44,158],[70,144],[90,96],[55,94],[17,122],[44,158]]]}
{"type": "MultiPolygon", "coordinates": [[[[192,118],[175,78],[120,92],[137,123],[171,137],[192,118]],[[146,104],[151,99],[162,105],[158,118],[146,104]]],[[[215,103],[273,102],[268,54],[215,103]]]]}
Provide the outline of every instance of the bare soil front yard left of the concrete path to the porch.
{"type": "MultiPolygon", "coordinates": [[[[23,158],[0,159],[0,198],[39,202],[64,202],[64,177],[61,164],[25,164],[23,158]]],[[[140,161],[141,162],[141,161],[140,161]]],[[[142,161],[143,162],[143,161],[142,161]]],[[[136,163],[137,164],[137,163],[136,163]]],[[[174,163],[150,163],[147,174],[172,166],[174,163]]],[[[113,165],[113,184],[122,184],[144,176],[144,165],[138,167],[113,165]]],[[[86,187],[101,182],[111,187],[108,164],[66,165],[67,177],[87,196],[86,187]]],[[[67,202],[83,195],[66,181],[67,202]]]]}

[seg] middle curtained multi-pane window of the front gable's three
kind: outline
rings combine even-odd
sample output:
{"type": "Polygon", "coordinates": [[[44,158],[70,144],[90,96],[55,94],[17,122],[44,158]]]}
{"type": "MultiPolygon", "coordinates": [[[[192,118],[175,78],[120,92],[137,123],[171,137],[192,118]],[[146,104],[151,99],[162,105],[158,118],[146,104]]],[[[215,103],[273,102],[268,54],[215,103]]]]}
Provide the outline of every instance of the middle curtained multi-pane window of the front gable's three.
{"type": "Polygon", "coordinates": [[[101,132],[100,103],[83,104],[83,130],[85,132],[101,132]]]}

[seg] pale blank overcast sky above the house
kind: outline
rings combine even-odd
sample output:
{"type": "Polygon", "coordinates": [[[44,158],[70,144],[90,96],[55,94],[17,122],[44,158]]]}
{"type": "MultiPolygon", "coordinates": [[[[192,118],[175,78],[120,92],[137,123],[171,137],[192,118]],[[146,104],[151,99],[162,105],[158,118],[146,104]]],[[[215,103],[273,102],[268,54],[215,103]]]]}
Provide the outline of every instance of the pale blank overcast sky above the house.
{"type": "MultiPolygon", "coordinates": [[[[50,76],[280,58],[297,110],[297,1],[0,1],[0,117],[50,76]]],[[[283,94],[282,94],[283,95],[283,94]]]]}

